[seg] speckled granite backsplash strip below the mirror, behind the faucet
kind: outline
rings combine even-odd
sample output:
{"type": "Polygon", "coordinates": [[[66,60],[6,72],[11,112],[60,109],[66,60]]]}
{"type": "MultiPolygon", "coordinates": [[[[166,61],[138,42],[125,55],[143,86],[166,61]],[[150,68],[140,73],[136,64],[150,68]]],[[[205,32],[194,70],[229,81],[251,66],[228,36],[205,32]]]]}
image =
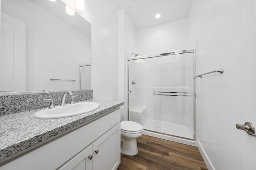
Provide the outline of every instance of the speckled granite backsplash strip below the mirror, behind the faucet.
{"type": "MultiPolygon", "coordinates": [[[[72,93],[77,96],[75,101],[92,99],[92,90],[74,90],[72,93]]],[[[41,109],[49,106],[44,99],[53,99],[54,105],[59,105],[63,92],[28,93],[0,96],[0,116],[20,113],[22,111],[41,109]]],[[[66,95],[66,103],[70,102],[69,94],[66,95]]]]}

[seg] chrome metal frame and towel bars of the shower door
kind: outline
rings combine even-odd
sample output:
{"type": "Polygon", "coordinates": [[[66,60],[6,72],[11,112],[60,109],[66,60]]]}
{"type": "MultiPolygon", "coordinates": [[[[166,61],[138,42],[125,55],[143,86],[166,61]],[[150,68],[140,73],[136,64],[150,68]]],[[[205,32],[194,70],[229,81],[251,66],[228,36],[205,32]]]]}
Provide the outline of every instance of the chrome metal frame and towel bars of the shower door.
{"type": "MultiPolygon", "coordinates": [[[[155,54],[155,55],[144,55],[144,56],[138,56],[138,57],[130,57],[127,58],[127,83],[128,86],[126,89],[129,92],[130,89],[130,84],[129,84],[129,61],[130,60],[138,60],[138,59],[148,59],[148,58],[153,58],[153,57],[162,57],[162,56],[167,56],[167,55],[178,55],[178,54],[184,54],[184,53],[194,53],[194,92],[193,93],[188,93],[188,92],[180,92],[180,93],[184,93],[184,95],[177,95],[177,93],[179,92],[154,92],[154,95],[161,95],[161,96],[193,96],[194,97],[194,139],[189,139],[192,141],[196,141],[196,101],[195,101],[195,97],[196,97],[196,93],[195,93],[195,89],[196,89],[196,83],[195,83],[195,75],[196,75],[196,49],[189,49],[189,50],[182,50],[182,51],[173,51],[170,53],[162,53],[162,54],[155,54]],[[155,93],[174,93],[174,94],[155,94],[155,93]],[[188,95],[188,94],[192,94],[192,95],[188,95]]],[[[128,103],[128,107],[127,107],[127,113],[128,113],[128,120],[130,119],[130,115],[129,115],[129,95],[127,98],[127,103],[128,103]]],[[[146,129],[145,129],[146,130],[146,129]]],[[[150,130],[146,130],[146,131],[150,131],[150,130]]],[[[164,134],[164,133],[160,133],[160,132],[156,132],[156,131],[152,131],[154,133],[159,133],[159,134],[164,134]]],[[[175,135],[170,135],[170,134],[164,134],[164,135],[168,135],[170,137],[177,137],[175,135]]],[[[180,139],[188,139],[188,138],[184,138],[184,137],[178,137],[180,139]]],[[[194,143],[193,143],[194,144],[194,143]]]]}

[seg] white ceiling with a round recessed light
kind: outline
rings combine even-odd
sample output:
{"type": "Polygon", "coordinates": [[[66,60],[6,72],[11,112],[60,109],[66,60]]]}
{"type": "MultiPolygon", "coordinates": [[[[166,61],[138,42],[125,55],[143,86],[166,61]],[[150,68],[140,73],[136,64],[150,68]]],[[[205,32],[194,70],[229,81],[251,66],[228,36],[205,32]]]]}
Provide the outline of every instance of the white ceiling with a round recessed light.
{"type": "Polygon", "coordinates": [[[117,9],[124,9],[134,27],[144,29],[188,17],[192,0],[113,0],[117,9]],[[159,19],[156,14],[161,14],[159,19]]]}

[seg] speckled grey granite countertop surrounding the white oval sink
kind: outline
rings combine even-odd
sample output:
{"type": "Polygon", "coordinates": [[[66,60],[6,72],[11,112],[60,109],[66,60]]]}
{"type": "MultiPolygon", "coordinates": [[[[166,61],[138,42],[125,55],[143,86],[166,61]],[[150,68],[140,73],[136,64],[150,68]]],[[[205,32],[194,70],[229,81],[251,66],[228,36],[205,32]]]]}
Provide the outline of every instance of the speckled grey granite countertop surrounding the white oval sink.
{"type": "Polygon", "coordinates": [[[57,119],[34,118],[34,113],[41,109],[0,116],[0,162],[124,105],[124,102],[96,99],[81,102],[96,102],[100,107],[81,115],[57,119]]]}

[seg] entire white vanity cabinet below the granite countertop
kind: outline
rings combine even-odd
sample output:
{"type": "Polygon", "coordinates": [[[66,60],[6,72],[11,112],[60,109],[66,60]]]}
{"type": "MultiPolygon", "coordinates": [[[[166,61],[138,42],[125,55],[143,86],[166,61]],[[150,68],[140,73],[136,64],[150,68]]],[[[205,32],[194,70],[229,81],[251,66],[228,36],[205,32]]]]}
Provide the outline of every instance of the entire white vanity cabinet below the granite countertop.
{"type": "Polygon", "coordinates": [[[119,164],[117,109],[0,164],[0,170],[115,170],[119,164]]]}

